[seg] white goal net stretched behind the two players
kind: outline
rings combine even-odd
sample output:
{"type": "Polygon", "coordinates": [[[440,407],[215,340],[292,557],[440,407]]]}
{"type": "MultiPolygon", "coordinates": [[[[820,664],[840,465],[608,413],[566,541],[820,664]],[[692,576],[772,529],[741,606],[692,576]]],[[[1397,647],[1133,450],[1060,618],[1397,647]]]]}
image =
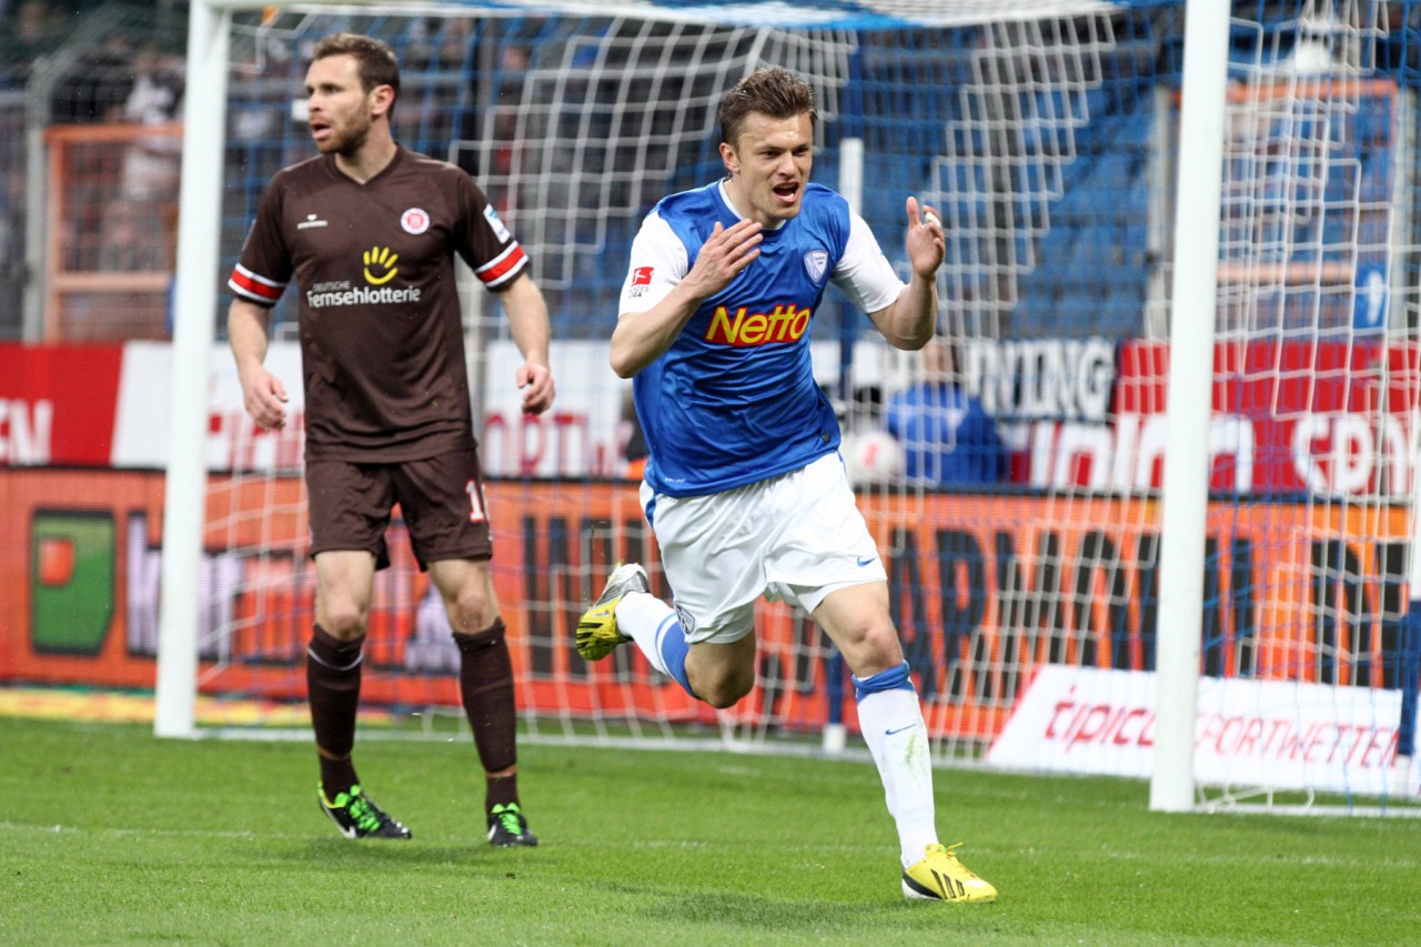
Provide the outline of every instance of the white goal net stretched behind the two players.
{"type": "MultiPolygon", "coordinates": [[[[618,560],[644,562],[669,597],[607,338],[642,216],[720,175],[716,105],[773,64],[814,84],[813,176],[857,203],[901,274],[908,195],[948,237],[951,346],[890,350],[834,294],[813,327],[936,762],[1150,775],[1157,677],[1192,673],[1155,664],[1189,135],[1181,3],[213,6],[239,7],[223,14],[217,272],[271,173],[311,154],[301,81],[334,30],[395,47],[396,139],[468,169],[533,260],[556,337],[544,417],[519,411],[496,300],[465,287],[529,739],[789,751],[855,731],[847,670],[783,604],[760,606],[757,684],[730,711],[691,701],[634,648],[590,664],[571,640],[618,560]]],[[[1259,3],[1235,17],[1214,375],[1196,384],[1212,421],[1194,771],[1205,805],[1414,799],[1415,10],[1259,3]]],[[[274,326],[288,431],[253,429],[230,357],[212,358],[200,609],[183,646],[199,654],[199,725],[304,697],[314,570],[288,300],[274,326]]],[[[375,583],[364,725],[446,732],[460,727],[458,653],[402,530],[396,518],[375,583]]]]}

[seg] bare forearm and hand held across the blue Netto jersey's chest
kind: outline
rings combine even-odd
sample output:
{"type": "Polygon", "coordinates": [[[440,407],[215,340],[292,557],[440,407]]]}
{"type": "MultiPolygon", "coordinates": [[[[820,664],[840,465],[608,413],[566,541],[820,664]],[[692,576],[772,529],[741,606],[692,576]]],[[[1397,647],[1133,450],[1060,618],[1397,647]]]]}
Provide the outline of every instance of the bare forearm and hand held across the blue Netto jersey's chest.
{"type": "Polygon", "coordinates": [[[716,223],[695,266],[665,299],[645,313],[622,313],[612,330],[612,371],[631,378],[671,348],[701,301],[729,286],[760,255],[760,229],[755,220],[730,228],[716,223]]]}

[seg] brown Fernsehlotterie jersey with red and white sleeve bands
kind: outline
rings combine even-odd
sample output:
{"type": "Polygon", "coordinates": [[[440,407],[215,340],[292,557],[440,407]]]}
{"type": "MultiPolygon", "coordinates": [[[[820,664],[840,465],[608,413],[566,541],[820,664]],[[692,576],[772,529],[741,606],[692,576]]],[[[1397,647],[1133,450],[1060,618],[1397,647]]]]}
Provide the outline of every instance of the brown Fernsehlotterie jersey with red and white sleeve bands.
{"type": "Polygon", "coordinates": [[[399,148],[365,183],[330,155],[271,179],[227,287],[274,306],[296,279],[307,458],[411,461],[473,445],[455,253],[490,290],[527,266],[455,165],[399,148]]]}

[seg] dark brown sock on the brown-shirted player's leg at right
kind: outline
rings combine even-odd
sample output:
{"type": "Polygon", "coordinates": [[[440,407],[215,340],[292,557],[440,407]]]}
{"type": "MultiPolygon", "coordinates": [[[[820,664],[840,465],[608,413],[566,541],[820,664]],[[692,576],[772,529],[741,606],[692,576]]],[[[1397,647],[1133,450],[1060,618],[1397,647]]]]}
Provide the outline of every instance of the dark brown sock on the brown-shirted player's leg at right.
{"type": "MultiPolygon", "coordinates": [[[[460,658],[459,695],[485,772],[502,772],[517,762],[513,658],[503,631],[503,619],[495,619],[483,631],[453,636],[460,658]]],[[[489,779],[487,805],[516,802],[517,785],[514,775],[489,779]]]]}

